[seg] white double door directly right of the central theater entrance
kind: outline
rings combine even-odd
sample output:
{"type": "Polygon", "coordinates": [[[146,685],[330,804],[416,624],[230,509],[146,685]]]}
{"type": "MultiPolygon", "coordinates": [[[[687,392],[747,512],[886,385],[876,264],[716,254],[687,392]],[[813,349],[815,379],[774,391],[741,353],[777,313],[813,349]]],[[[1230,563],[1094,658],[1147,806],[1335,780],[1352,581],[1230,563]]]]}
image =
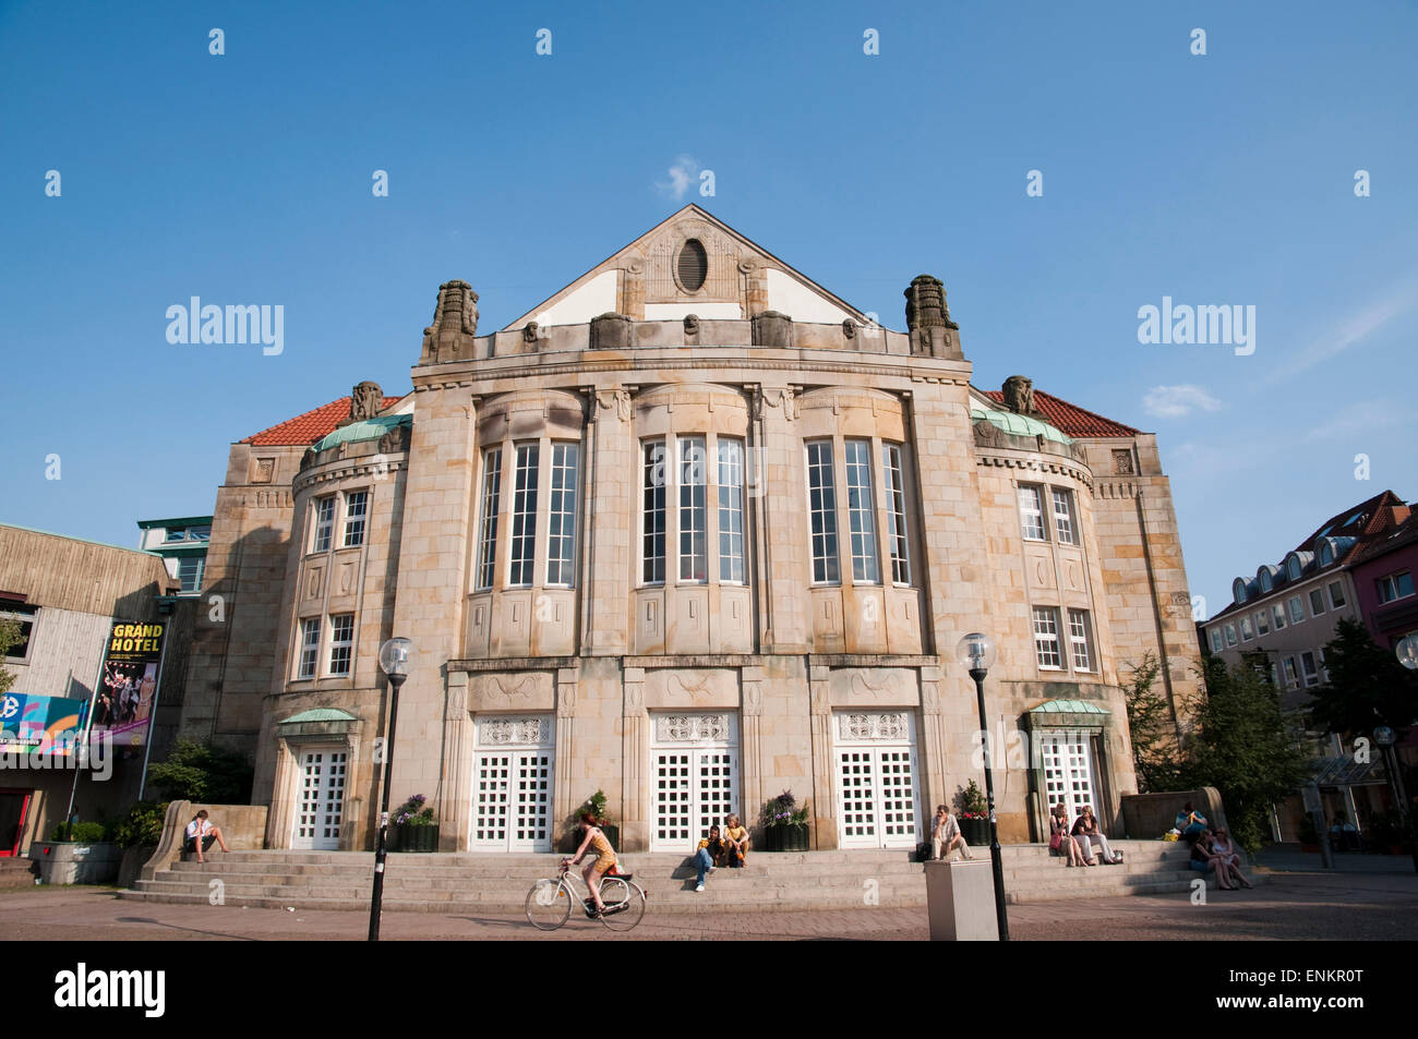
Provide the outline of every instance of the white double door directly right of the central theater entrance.
{"type": "Polygon", "coordinates": [[[838,712],[832,723],[838,845],[915,848],[920,815],[912,712],[838,712]]]}

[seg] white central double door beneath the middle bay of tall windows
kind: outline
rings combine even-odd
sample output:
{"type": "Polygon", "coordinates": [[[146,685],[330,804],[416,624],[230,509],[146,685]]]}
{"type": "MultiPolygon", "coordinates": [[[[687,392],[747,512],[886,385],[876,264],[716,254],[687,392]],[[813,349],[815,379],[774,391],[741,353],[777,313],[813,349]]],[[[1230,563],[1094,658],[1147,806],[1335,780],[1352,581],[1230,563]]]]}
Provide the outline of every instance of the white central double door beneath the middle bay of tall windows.
{"type": "Polygon", "coordinates": [[[688,852],[739,812],[737,717],[655,714],[649,850],[688,852]]]}

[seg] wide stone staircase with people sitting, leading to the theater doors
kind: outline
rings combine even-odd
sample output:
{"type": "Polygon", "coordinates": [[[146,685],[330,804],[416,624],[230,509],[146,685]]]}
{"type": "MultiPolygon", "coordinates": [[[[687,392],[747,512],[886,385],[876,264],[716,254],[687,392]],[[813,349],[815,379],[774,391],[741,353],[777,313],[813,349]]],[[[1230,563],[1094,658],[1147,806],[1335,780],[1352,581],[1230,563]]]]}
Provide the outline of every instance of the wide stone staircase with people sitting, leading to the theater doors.
{"type": "MultiPolygon", "coordinates": [[[[1200,877],[1187,869],[1187,846],[1161,841],[1113,841],[1117,866],[1069,869],[1045,845],[1003,849],[1010,902],[1170,894],[1191,890],[1200,877]]],[[[990,860],[988,848],[971,849],[990,860]]],[[[532,884],[556,876],[560,855],[401,855],[389,856],[384,909],[423,913],[520,911],[532,884]]],[[[621,856],[621,867],[645,889],[651,909],[718,911],[726,906],[776,910],[906,907],[926,904],[925,866],[908,852],[754,852],[747,869],[719,869],[706,890],[695,892],[695,872],[683,855],[621,856]]],[[[152,880],[139,880],[123,899],[213,903],[261,909],[369,909],[373,852],[221,852],[207,863],[173,863],[152,880]],[[213,884],[220,880],[220,886],[213,884]]],[[[1246,873],[1255,883],[1261,877],[1246,873]]],[[[1210,887],[1215,879],[1208,877],[1210,887]]],[[[577,890],[580,884],[577,883],[577,890]]]]}

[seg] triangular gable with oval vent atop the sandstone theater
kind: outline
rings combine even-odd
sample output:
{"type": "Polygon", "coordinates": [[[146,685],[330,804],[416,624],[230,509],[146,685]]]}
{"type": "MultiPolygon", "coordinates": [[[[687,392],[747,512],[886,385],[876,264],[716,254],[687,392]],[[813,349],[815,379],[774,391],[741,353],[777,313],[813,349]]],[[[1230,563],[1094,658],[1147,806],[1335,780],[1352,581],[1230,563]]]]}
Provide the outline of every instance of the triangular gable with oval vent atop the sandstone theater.
{"type": "Polygon", "coordinates": [[[798,322],[839,323],[851,318],[866,325],[871,320],[761,245],[691,204],[509,322],[503,332],[525,327],[527,322],[539,327],[584,325],[607,312],[635,320],[681,319],[691,313],[742,320],[764,310],[777,310],[798,322]],[[703,285],[692,291],[676,272],[679,254],[689,240],[699,241],[708,255],[703,285]]]}

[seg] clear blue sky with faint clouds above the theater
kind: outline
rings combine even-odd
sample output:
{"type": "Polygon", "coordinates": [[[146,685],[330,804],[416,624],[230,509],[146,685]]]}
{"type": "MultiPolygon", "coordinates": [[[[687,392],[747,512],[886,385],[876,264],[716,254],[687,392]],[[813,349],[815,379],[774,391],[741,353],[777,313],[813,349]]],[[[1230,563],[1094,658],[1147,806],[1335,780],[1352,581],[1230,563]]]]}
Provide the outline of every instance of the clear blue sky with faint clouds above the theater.
{"type": "Polygon", "coordinates": [[[934,274],[977,386],[1157,432],[1211,612],[1418,496],[1411,3],[291,7],[0,1],[0,520],[210,512],[231,441],[406,390],[440,282],[498,327],[688,201],[891,327],[934,274]],[[284,353],[167,343],[194,295],[284,353]],[[1140,344],[1163,296],[1254,305],[1255,353],[1140,344]]]}

